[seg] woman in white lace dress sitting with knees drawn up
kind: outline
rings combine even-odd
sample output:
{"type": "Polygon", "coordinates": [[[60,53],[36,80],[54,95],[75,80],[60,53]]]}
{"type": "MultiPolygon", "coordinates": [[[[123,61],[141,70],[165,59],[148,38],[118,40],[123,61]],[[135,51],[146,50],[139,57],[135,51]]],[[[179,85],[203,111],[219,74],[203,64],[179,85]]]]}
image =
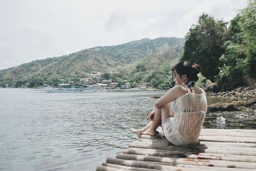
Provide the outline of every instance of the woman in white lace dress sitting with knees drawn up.
{"type": "Polygon", "coordinates": [[[198,64],[188,61],[176,64],[172,73],[177,85],[156,101],[156,109],[147,117],[152,121],[132,132],[138,137],[154,136],[158,126],[162,126],[164,136],[174,145],[197,143],[207,110],[205,92],[195,85],[200,71],[198,64]]]}

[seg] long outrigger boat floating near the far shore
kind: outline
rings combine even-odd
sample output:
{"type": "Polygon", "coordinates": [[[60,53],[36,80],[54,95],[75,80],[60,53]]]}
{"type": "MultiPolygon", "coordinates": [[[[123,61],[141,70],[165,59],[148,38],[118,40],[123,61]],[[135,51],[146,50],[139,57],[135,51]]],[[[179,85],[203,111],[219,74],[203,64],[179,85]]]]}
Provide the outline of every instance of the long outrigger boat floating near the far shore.
{"type": "MultiPolygon", "coordinates": [[[[59,84],[59,85],[61,86],[64,84],[59,84]]],[[[65,84],[65,85],[69,85],[69,84],[65,84]]],[[[49,91],[49,93],[93,93],[96,90],[97,89],[95,87],[76,88],[75,84],[72,84],[71,88],[61,86],[58,88],[51,89],[51,91],[49,91]]]]}

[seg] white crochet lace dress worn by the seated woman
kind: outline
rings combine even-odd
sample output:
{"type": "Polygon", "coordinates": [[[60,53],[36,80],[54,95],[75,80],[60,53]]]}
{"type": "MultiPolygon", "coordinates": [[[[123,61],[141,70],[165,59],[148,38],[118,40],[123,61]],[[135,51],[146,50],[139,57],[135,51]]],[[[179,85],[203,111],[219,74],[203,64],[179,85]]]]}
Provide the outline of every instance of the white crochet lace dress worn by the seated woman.
{"type": "Polygon", "coordinates": [[[207,110],[205,93],[186,93],[172,103],[174,117],[164,121],[163,132],[174,145],[195,144],[204,123],[207,110]]]}

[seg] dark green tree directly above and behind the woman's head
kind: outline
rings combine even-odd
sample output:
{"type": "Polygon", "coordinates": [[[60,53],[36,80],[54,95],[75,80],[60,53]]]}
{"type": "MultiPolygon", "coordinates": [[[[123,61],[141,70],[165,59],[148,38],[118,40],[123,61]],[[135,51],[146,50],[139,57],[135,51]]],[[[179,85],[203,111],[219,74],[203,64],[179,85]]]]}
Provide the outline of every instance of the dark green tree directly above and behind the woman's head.
{"type": "Polygon", "coordinates": [[[227,23],[214,20],[203,14],[196,26],[192,26],[186,34],[182,61],[197,63],[202,68],[202,75],[214,81],[218,76],[219,58],[225,52],[225,31],[227,23]]]}

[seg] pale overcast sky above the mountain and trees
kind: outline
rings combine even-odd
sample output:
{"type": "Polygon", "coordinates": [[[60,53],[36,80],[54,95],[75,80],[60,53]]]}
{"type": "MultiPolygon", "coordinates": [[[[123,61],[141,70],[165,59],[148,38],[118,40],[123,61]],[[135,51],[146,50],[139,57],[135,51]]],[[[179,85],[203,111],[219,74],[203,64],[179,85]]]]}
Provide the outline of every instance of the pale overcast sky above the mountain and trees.
{"type": "Polygon", "coordinates": [[[0,70],[85,48],[184,38],[203,13],[230,21],[248,0],[0,0],[0,70]]]}

